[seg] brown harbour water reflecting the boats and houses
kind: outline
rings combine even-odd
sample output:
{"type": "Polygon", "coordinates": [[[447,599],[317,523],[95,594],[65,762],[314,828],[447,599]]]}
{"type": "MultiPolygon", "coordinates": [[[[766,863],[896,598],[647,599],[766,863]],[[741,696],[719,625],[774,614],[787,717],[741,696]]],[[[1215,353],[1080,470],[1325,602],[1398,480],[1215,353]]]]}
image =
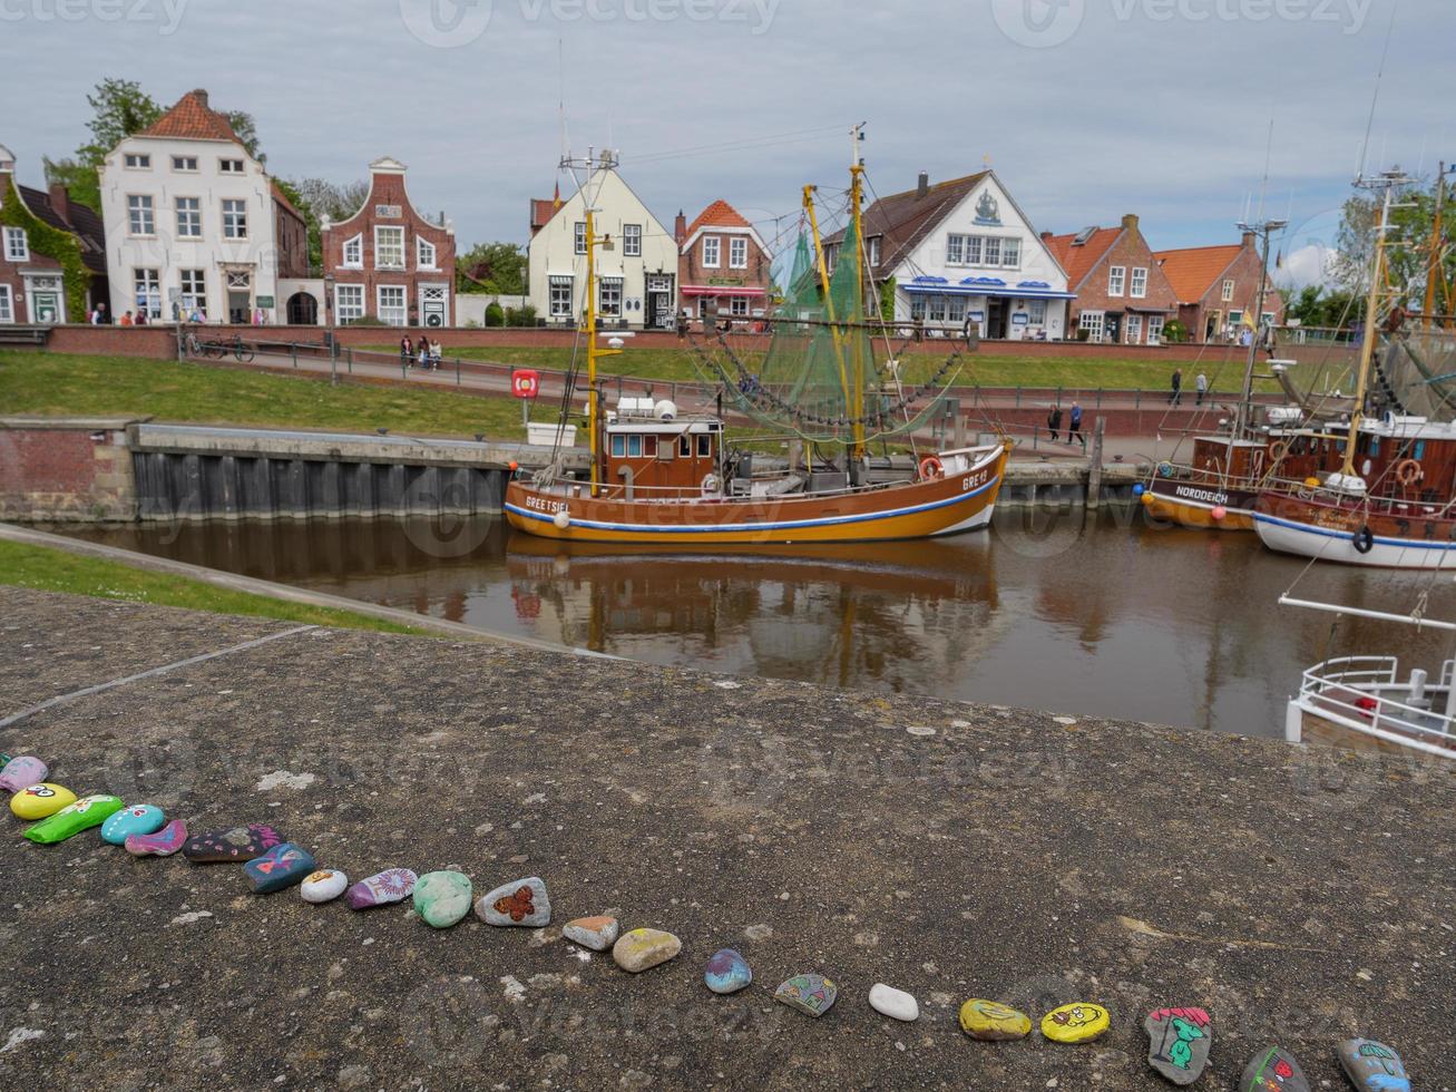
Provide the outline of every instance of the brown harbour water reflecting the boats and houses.
{"type": "Polygon", "coordinates": [[[1142,510],[1002,511],[990,534],[696,553],[563,546],[499,520],[188,524],[86,537],[658,664],[1278,735],[1305,667],[1433,636],[1280,609],[1408,610],[1450,578],[1316,566],[1142,510]]]}

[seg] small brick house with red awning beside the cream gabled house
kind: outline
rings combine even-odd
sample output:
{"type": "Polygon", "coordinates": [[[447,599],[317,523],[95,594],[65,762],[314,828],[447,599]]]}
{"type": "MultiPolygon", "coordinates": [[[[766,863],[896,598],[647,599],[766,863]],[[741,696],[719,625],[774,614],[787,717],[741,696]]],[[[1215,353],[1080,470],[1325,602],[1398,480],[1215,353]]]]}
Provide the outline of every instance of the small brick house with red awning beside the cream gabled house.
{"type": "Polygon", "coordinates": [[[678,253],[680,306],[702,317],[709,300],[721,316],[763,313],[769,304],[773,255],[763,237],[727,201],[713,201],[692,224],[681,213],[673,232],[678,253]]]}

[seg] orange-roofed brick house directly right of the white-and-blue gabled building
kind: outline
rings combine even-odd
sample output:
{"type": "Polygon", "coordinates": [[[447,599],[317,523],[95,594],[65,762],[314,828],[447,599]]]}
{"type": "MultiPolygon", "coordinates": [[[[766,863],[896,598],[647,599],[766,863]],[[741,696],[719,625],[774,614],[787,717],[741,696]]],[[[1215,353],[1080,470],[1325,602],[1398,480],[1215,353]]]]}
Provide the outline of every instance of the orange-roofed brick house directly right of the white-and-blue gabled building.
{"type": "Polygon", "coordinates": [[[1107,345],[1160,345],[1163,328],[1178,314],[1178,294],[1163,275],[1139,218],[1118,227],[1089,227],[1077,234],[1042,234],[1067,271],[1076,294],[1067,329],[1107,345]]]}

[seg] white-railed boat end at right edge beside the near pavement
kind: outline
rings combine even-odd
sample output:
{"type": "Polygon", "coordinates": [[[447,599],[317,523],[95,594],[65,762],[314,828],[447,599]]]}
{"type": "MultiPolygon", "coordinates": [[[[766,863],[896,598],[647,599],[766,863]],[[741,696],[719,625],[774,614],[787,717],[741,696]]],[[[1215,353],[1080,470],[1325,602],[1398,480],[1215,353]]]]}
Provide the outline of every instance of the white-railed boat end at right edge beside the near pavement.
{"type": "MultiPolygon", "coordinates": [[[[1450,661],[1441,668],[1441,683],[1431,693],[1444,699],[1453,673],[1450,661]]],[[[1409,696],[1401,683],[1401,665],[1392,657],[1345,657],[1329,660],[1305,671],[1299,702],[1312,713],[1335,716],[1356,731],[1377,735],[1406,735],[1423,743],[1456,745],[1456,716],[1436,708],[1420,708],[1390,697],[1388,690],[1409,696]]]]}

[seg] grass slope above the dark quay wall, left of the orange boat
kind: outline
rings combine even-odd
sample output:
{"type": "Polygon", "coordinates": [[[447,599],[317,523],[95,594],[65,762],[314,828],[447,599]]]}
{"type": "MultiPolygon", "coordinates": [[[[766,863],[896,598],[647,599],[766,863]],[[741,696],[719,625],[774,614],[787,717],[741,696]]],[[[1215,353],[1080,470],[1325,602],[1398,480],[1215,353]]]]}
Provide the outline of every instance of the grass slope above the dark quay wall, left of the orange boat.
{"type": "Polygon", "coordinates": [[[336,428],[520,440],[514,399],[277,376],[205,364],[0,351],[0,414],[153,416],[218,425],[336,428]]]}

